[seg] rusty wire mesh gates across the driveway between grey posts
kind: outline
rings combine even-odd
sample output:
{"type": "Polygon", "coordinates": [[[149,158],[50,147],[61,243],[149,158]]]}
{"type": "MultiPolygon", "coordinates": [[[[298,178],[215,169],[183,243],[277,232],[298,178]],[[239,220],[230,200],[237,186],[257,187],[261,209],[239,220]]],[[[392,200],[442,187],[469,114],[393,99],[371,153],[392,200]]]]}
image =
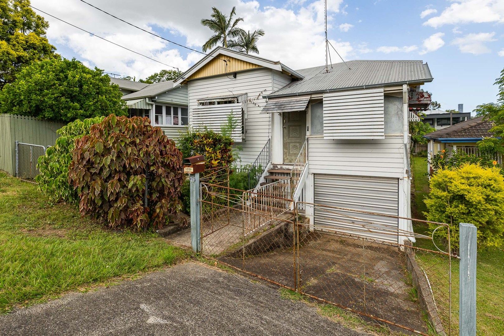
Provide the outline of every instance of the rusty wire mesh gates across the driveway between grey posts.
{"type": "Polygon", "coordinates": [[[445,241],[369,220],[390,215],[303,202],[319,217],[340,215],[314,225],[292,200],[219,184],[203,182],[200,202],[204,255],[401,332],[458,333],[457,257],[436,248],[445,241]]]}

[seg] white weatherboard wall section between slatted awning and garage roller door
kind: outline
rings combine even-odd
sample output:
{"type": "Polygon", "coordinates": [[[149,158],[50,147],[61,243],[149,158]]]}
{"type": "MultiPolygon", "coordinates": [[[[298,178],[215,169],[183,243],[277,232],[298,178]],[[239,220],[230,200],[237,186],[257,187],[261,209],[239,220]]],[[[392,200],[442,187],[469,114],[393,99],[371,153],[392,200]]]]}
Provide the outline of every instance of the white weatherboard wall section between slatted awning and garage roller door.
{"type": "Polygon", "coordinates": [[[308,140],[309,173],[404,177],[402,137],[308,140]]]}

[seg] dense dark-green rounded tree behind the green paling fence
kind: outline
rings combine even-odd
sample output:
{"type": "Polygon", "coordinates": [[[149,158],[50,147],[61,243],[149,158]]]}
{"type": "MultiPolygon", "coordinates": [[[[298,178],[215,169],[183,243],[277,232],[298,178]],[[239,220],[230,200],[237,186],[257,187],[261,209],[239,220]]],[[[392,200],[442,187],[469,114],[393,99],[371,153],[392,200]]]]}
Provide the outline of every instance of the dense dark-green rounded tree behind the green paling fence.
{"type": "Polygon", "coordinates": [[[76,59],[45,59],[25,66],[18,79],[0,92],[0,113],[73,121],[102,115],[125,115],[116,85],[103,71],[76,59]]]}

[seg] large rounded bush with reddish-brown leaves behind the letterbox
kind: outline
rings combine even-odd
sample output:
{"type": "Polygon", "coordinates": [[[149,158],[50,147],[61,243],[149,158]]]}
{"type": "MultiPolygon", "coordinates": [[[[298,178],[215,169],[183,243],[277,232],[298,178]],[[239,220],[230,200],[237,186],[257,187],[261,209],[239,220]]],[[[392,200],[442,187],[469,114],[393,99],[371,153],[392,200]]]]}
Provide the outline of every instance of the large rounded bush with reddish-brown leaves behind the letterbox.
{"type": "Polygon", "coordinates": [[[112,228],[161,227],[180,210],[182,154],[148,118],[110,115],[76,141],[69,179],[81,214],[112,228]]]}

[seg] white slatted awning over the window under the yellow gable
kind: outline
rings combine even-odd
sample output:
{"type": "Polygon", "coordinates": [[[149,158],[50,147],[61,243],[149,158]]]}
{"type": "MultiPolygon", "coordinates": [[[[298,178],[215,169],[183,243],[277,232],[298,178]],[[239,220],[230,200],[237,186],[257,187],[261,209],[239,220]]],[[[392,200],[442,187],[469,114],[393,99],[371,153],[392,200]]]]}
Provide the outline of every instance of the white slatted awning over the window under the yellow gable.
{"type": "Polygon", "coordinates": [[[216,132],[221,131],[222,124],[227,122],[230,114],[233,119],[239,120],[236,127],[231,132],[231,138],[234,142],[241,142],[241,103],[235,104],[222,104],[222,105],[209,105],[209,106],[196,106],[192,112],[191,124],[195,127],[207,127],[216,132]]]}

